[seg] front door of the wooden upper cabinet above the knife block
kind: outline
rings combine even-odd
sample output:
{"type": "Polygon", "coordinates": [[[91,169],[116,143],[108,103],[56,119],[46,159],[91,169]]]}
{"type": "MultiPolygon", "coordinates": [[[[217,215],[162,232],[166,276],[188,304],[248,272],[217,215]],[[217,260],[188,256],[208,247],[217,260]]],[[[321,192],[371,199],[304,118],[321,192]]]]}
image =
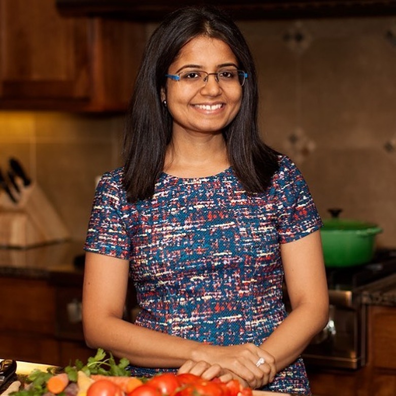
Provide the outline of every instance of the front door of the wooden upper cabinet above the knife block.
{"type": "Polygon", "coordinates": [[[0,56],[2,101],[89,97],[88,21],[61,18],[54,0],[0,0],[0,56]]]}

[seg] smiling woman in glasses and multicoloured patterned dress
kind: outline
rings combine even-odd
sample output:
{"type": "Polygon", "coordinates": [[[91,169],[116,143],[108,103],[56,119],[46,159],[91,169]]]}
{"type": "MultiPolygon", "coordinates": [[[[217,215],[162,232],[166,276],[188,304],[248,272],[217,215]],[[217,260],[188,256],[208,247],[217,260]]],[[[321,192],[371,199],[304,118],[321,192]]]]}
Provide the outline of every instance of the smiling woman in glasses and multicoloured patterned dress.
{"type": "Polygon", "coordinates": [[[124,166],[98,184],[85,244],[86,342],[128,358],[133,375],[179,369],[310,394],[300,355],[328,309],[321,221],[256,119],[237,26],[208,7],[167,17],[137,76],[124,166]],[[128,275],[134,324],[122,319],[128,275]]]}

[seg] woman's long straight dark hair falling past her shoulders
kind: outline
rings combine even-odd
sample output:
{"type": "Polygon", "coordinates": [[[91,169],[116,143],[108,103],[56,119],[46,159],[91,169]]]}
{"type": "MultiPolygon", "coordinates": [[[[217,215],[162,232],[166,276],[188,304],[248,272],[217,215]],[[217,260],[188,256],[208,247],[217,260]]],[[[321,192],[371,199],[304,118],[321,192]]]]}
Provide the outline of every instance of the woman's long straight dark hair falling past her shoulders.
{"type": "Polygon", "coordinates": [[[124,128],[123,186],[129,202],[147,199],[163,170],[172,138],[172,117],[161,104],[165,75],[181,48],[207,36],[225,42],[238,67],[248,73],[241,109],[223,130],[228,160],[247,192],[263,192],[278,169],[276,152],[264,144],[257,127],[257,79],[249,47],[236,24],[213,7],[185,7],[169,14],[149,39],[137,75],[124,128]]]}

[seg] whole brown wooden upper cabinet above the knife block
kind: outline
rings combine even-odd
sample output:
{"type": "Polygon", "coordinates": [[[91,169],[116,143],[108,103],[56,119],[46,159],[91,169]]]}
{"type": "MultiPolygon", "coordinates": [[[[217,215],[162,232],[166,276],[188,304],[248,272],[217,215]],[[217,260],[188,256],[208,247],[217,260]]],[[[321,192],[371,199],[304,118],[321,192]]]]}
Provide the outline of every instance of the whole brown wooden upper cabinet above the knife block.
{"type": "Polygon", "coordinates": [[[0,108],[124,111],[144,44],[137,22],[0,0],[0,108]]]}

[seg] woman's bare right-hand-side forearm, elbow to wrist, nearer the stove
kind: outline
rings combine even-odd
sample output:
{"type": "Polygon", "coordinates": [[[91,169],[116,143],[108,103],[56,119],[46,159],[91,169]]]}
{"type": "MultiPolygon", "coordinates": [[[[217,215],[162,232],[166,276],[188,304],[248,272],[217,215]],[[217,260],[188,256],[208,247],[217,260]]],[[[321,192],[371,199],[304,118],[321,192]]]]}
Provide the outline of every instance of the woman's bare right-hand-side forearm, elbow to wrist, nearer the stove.
{"type": "Polygon", "coordinates": [[[260,348],[275,357],[279,372],[301,355],[327,319],[328,305],[302,305],[288,315],[260,348]]]}

